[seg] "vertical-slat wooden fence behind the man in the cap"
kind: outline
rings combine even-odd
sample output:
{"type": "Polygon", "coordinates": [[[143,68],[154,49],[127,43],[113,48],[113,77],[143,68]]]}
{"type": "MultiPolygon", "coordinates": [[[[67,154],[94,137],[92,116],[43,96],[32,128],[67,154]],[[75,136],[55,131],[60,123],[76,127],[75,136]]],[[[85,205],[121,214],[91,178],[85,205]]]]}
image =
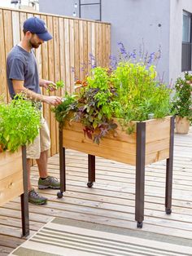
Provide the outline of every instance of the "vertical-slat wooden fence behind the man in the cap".
{"type": "MultiPolygon", "coordinates": [[[[74,90],[76,78],[83,79],[94,64],[107,66],[110,55],[111,25],[92,20],[50,15],[39,12],[0,8],[0,95],[9,101],[6,77],[6,58],[12,46],[20,42],[24,20],[37,16],[46,21],[53,40],[36,50],[40,77],[51,81],[63,80],[65,88],[45,95],[63,95],[74,90]]],[[[54,114],[45,104],[44,117],[50,126],[50,155],[59,152],[59,129],[54,114]]]]}

